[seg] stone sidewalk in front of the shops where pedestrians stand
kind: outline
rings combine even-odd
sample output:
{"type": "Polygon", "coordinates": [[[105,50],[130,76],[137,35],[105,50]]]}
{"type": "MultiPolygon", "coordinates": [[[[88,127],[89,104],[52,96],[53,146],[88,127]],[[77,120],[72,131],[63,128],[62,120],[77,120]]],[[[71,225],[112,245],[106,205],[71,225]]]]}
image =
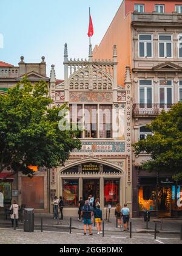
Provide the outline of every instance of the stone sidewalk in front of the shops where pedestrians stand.
{"type": "MultiPolygon", "coordinates": [[[[43,220],[43,227],[45,230],[59,229],[68,230],[70,226],[70,218],[72,218],[72,229],[83,230],[83,222],[78,221],[78,216],[64,216],[64,220],[53,219],[53,215],[35,213],[35,229],[41,228],[41,218],[43,220]]],[[[161,225],[161,219],[150,218],[148,223],[148,229],[146,229],[146,222],[143,218],[132,218],[132,232],[136,233],[151,233],[154,232],[155,223],[157,223],[157,230],[160,233],[180,233],[182,219],[163,219],[161,225]]],[[[4,215],[0,215],[0,227],[10,227],[10,219],[5,219],[4,215]]],[[[22,228],[23,224],[19,221],[19,228],[22,228]]],[[[96,227],[93,226],[93,230],[96,227]]],[[[105,220],[106,232],[121,232],[121,228],[116,228],[116,219],[110,219],[110,222],[105,220]]]]}

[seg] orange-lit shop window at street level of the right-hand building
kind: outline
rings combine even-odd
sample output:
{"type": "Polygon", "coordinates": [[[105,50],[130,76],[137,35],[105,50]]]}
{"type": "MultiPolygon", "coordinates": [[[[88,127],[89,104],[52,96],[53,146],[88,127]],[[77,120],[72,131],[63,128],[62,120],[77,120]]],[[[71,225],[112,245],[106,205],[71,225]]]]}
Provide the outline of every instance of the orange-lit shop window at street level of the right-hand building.
{"type": "Polygon", "coordinates": [[[156,202],[156,187],[155,186],[143,186],[138,190],[138,204],[139,210],[155,210],[156,202]]]}

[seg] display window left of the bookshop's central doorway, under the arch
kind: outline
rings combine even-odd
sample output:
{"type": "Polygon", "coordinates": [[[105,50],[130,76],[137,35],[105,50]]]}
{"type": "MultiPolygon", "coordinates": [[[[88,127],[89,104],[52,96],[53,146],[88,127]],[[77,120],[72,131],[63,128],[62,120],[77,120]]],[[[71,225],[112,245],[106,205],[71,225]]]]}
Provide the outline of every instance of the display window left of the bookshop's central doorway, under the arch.
{"type": "Polygon", "coordinates": [[[64,204],[75,207],[78,205],[78,180],[63,180],[62,194],[64,204]]]}

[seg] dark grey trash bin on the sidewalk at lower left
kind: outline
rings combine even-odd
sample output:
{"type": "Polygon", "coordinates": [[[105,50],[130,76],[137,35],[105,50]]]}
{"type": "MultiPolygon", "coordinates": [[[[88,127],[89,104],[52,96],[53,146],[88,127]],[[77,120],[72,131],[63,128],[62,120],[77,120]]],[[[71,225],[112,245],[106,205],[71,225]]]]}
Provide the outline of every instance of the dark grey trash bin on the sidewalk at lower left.
{"type": "Polygon", "coordinates": [[[24,209],[24,232],[34,232],[34,209],[24,209]]]}

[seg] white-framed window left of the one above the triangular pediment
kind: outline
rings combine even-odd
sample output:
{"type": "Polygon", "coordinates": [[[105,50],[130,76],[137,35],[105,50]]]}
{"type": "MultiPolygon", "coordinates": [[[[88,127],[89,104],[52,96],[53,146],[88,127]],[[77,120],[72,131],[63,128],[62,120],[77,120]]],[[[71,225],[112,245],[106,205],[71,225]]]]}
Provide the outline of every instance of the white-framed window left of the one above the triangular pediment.
{"type": "Polygon", "coordinates": [[[151,58],[153,55],[153,35],[139,35],[139,57],[151,58]]]}

